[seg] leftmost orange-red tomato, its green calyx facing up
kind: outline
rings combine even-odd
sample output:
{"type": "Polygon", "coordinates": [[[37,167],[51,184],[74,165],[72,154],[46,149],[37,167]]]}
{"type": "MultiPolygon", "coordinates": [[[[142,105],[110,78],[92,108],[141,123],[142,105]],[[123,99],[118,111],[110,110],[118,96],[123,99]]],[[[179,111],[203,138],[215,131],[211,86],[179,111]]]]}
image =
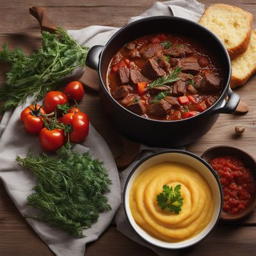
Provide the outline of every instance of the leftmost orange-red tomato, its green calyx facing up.
{"type": "Polygon", "coordinates": [[[46,114],[42,106],[30,105],[20,113],[20,120],[29,133],[39,133],[44,128],[43,116],[46,114]]]}

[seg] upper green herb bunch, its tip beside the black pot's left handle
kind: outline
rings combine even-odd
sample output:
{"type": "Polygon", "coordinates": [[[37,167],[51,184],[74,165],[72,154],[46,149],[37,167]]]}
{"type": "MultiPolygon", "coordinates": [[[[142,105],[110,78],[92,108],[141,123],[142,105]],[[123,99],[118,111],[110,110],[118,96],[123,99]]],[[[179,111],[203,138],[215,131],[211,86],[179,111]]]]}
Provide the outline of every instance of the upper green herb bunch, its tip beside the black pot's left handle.
{"type": "Polygon", "coordinates": [[[56,35],[43,31],[42,40],[42,48],[30,56],[19,47],[10,51],[8,45],[3,44],[0,62],[11,64],[6,83],[0,88],[3,111],[15,108],[20,101],[26,102],[31,93],[35,99],[44,97],[63,77],[85,66],[89,47],[77,44],[65,29],[58,28],[56,35]]]}

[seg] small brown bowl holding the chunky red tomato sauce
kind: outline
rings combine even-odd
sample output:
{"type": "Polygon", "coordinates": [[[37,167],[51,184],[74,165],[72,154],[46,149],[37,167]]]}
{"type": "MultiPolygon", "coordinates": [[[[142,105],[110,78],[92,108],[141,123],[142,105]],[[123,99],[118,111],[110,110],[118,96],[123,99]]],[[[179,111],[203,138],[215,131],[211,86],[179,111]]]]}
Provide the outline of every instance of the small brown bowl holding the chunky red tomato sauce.
{"type": "MultiPolygon", "coordinates": [[[[202,158],[207,161],[207,163],[210,163],[212,159],[215,157],[221,157],[221,156],[237,156],[243,161],[244,166],[246,168],[249,168],[253,174],[254,179],[256,180],[256,160],[253,156],[245,152],[244,150],[241,150],[236,147],[230,147],[230,146],[216,146],[211,147],[207,149],[204,154],[202,154],[202,158]]],[[[247,205],[246,209],[239,212],[238,214],[227,214],[224,211],[221,211],[221,220],[225,221],[237,221],[241,220],[242,218],[248,216],[253,209],[256,206],[256,192],[254,193],[251,202],[247,205]]]]}

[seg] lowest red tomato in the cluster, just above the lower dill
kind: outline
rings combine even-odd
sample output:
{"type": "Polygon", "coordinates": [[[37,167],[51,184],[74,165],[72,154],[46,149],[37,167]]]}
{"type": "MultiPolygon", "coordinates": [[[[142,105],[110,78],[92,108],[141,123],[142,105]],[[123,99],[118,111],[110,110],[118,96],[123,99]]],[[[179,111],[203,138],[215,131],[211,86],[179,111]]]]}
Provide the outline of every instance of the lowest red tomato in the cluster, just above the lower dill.
{"type": "Polygon", "coordinates": [[[48,130],[43,128],[39,134],[41,147],[47,151],[56,151],[65,143],[65,134],[61,129],[48,130]]]}

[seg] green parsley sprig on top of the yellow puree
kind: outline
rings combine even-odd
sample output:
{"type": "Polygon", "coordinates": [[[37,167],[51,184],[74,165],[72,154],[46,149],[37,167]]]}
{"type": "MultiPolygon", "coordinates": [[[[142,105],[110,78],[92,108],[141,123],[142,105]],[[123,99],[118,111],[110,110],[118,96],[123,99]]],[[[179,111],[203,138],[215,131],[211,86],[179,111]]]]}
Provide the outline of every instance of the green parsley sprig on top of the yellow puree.
{"type": "Polygon", "coordinates": [[[168,209],[170,212],[179,214],[183,205],[183,198],[180,194],[181,185],[175,186],[173,189],[167,185],[163,186],[163,192],[157,195],[157,204],[162,210],[168,209]]]}

